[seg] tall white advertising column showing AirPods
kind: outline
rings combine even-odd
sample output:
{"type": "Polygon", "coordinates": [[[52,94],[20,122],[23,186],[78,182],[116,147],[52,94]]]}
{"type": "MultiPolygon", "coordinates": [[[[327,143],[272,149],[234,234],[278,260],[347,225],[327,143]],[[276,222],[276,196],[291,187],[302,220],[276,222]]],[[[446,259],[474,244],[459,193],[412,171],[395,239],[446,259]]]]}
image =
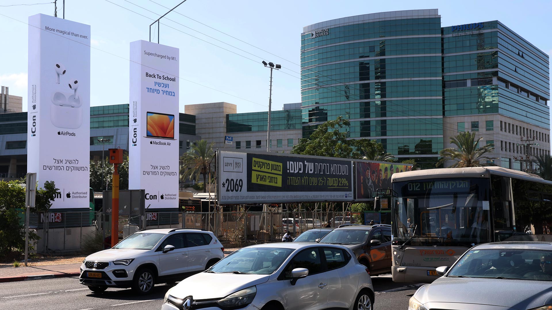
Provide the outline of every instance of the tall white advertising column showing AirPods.
{"type": "Polygon", "coordinates": [[[27,170],[54,181],[54,209],[88,208],[90,26],[29,17],[27,170]]]}

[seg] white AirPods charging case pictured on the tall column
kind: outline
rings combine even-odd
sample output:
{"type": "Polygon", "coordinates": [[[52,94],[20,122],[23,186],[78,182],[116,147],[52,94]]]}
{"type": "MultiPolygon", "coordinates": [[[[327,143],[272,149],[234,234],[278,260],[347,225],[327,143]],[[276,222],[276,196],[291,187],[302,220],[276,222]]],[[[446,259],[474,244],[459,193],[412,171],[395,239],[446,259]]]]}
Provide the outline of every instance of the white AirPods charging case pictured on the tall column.
{"type": "Polygon", "coordinates": [[[50,120],[57,128],[77,129],[82,125],[81,98],[68,97],[65,94],[56,92],[52,95],[50,106],[50,120]]]}

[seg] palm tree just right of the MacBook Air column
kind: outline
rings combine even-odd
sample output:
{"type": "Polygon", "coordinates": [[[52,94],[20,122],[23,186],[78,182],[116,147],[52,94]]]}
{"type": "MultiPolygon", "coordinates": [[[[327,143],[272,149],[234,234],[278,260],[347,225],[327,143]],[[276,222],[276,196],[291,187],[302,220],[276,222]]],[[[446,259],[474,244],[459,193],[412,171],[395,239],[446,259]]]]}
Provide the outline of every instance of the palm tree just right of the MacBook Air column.
{"type": "Polygon", "coordinates": [[[207,174],[211,171],[211,161],[215,152],[213,152],[213,145],[215,142],[211,142],[209,145],[205,140],[199,140],[194,143],[190,151],[184,153],[180,160],[182,161],[182,169],[180,170],[181,179],[187,180],[194,177],[199,179],[199,175],[203,175],[203,193],[205,193],[207,185],[207,174]]]}

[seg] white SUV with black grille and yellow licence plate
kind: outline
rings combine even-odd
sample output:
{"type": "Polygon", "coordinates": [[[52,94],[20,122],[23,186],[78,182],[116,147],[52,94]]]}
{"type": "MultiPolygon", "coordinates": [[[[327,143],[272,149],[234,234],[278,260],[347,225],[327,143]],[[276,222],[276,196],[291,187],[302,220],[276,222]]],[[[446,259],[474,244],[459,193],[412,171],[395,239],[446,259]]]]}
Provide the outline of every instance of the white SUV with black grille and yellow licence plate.
{"type": "Polygon", "coordinates": [[[144,229],[112,249],[88,255],[79,282],[93,292],[132,287],[148,293],[158,283],[174,283],[224,257],[224,247],[203,229],[144,229]]]}

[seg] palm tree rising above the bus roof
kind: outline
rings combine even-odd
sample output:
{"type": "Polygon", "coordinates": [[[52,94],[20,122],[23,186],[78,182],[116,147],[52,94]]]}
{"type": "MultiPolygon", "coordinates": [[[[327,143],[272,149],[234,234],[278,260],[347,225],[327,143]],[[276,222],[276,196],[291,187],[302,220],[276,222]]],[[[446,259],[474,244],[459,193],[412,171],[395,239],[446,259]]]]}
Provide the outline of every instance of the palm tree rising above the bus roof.
{"type": "Polygon", "coordinates": [[[487,153],[492,153],[495,149],[495,145],[492,143],[483,147],[478,147],[479,141],[483,138],[475,139],[475,132],[460,132],[458,136],[450,137],[450,143],[457,146],[457,148],[449,147],[440,151],[442,157],[437,166],[443,164],[445,161],[452,159],[457,163],[450,166],[450,168],[466,168],[466,167],[481,167],[481,161],[486,159],[495,159],[488,156],[484,156],[487,153]]]}

